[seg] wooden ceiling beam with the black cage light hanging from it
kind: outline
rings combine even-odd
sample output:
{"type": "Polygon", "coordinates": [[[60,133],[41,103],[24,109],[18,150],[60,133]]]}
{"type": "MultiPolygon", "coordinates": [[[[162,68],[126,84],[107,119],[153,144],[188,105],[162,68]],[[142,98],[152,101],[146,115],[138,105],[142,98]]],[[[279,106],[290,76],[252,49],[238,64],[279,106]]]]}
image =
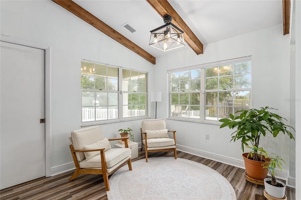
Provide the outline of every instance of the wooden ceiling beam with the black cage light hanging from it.
{"type": "Polygon", "coordinates": [[[180,15],[172,8],[167,0],[146,0],[157,13],[163,17],[164,15],[172,16],[172,23],[184,31],[184,39],[194,52],[199,55],[203,53],[203,44],[191,31],[187,24],[182,20],[180,15]]]}

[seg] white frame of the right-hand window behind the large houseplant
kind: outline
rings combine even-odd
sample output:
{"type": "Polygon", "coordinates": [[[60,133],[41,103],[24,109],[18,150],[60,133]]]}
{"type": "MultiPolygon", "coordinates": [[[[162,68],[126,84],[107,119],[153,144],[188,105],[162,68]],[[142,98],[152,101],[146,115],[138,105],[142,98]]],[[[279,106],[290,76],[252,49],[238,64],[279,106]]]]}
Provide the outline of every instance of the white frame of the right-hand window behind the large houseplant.
{"type": "MultiPolygon", "coordinates": [[[[177,69],[172,69],[167,71],[167,119],[176,119],[176,120],[184,120],[184,121],[194,121],[194,122],[204,122],[204,123],[220,123],[218,120],[206,120],[205,119],[205,92],[233,92],[233,91],[250,91],[250,109],[252,108],[252,56],[246,56],[246,57],[241,57],[241,58],[235,58],[235,59],[228,59],[228,60],[223,60],[223,61],[218,61],[218,62],[210,62],[206,64],[201,64],[201,65],[194,65],[194,66],[189,66],[189,67],[183,67],[183,68],[177,68],[177,69]],[[214,67],[218,65],[226,65],[226,64],[233,64],[233,63],[238,63],[238,62],[245,62],[245,61],[251,61],[251,88],[241,88],[241,89],[212,89],[212,90],[205,90],[205,68],[209,67],[214,67]],[[187,71],[187,70],[194,70],[194,69],[200,69],[201,70],[201,88],[200,88],[200,119],[195,119],[195,118],[189,118],[189,117],[175,117],[175,116],[170,116],[170,105],[171,105],[171,98],[170,94],[172,93],[193,93],[197,91],[185,91],[185,92],[170,92],[170,74],[174,72],[180,72],[180,71],[187,71]]],[[[240,75],[240,74],[234,74],[233,72],[233,82],[234,82],[234,76],[235,75],[240,75]]],[[[219,77],[219,76],[217,76],[219,77]]],[[[219,80],[219,79],[218,79],[219,80]]],[[[218,82],[219,84],[219,82],[218,82]]],[[[233,84],[234,87],[234,84],[233,84]]],[[[215,107],[215,106],[213,106],[215,107]]],[[[218,105],[216,107],[219,107],[218,105]]]]}

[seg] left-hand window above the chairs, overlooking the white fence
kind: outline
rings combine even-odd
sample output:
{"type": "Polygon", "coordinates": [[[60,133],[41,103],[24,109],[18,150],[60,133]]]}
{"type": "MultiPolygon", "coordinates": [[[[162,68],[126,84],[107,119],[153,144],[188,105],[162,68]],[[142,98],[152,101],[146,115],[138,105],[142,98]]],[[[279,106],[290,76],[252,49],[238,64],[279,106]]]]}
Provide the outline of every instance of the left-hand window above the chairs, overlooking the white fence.
{"type": "Polygon", "coordinates": [[[145,72],[82,61],[81,89],[82,122],[147,116],[145,72]]]}

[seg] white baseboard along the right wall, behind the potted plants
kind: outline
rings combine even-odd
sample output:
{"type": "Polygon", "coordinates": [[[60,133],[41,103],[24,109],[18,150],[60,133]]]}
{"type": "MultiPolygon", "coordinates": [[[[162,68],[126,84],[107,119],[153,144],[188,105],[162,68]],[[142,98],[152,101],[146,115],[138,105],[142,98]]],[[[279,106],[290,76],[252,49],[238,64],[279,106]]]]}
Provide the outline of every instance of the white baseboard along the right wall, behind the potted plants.
{"type": "MultiPolygon", "coordinates": [[[[186,146],[183,146],[183,145],[180,145],[180,144],[177,144],[177,150],[185,152],[185,153],[190,153],[190,154],[195,155],[195,156],[200,156],[200,157],[203,157],[203,158],[214,160],[214,161],[217,161],[217,162],[222,162],[222,163],[225,163],[227,165],[232,165],[234,167],[245,169],[244,160],[231,158],[231,157],[223,156],[223,155],[216,154],[216,153],[211,153],[211,152],[203,151],[203,150],[200,150],[200,149],[186,147],[186,146]]],[[[280,178],[282,180],[287,180],[287,177],[288,177],[287,171],[280,171],[280,170],[276,170],[276,171],[277,171],[277,173],[276,173],[277,178],[280,178]]]]}

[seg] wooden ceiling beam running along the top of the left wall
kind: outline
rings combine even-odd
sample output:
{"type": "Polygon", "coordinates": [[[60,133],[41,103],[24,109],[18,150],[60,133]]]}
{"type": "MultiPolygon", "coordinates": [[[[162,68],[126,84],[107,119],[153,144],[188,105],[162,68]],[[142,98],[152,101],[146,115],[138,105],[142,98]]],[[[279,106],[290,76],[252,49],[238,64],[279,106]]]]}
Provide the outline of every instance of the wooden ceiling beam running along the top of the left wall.
{"type": "Polygon", "coordinates": [[[86,11],[84,8],[77,5],[75,2],[71,0],[52,0],[54,3],[60,5],[61,7],[65,8],[67,11],[73,13],[80,19],[84,20],[91,26],[95,27],[96,29],[100,30],[110,38],[114,39],[115,41],[119,42],[123,46],[127,47],[128,49],[132,50],[133,52],[137,53],[139,56],[143,57],[147,61],[151,62],[152,64],[156,64],[156,58],[152,56],[150,53],[147,53],[137,44],[130,41],[128,38],[121,35],[119,32],[108,26],[106,23],[86,11]]]}

